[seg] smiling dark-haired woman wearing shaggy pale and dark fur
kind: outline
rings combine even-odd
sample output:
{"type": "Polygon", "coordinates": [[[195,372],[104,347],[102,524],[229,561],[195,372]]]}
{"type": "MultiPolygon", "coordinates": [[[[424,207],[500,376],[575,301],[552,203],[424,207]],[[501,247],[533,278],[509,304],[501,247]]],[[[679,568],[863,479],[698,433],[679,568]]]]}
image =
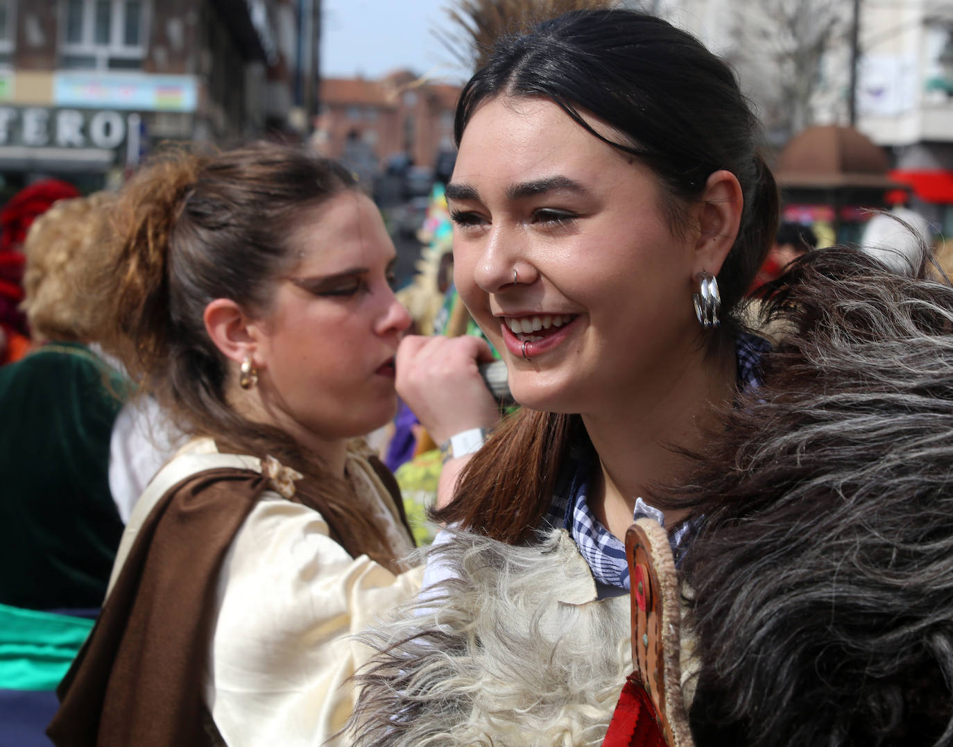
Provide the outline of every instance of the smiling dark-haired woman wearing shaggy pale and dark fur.
{"type": "MultiPolygon", "coordinates": [[[[766,308],[807,341],[800,349],[797,334],[782,341],[771,371],[790,364],[794,373],[767,389],[761,363],[772,353],[739,317],[778,221],[757,121],[719,58],[638,11],[574,11],[501,39],[462,91],[456,138],[446,190],[456,286],[503,352],[523,407],[476,454],[448,462],[462,474],[453,502],[436,512],[449,528],[428,558],[425,593],[413,612],[368,636],[380,653],[362,675],[356,743],[601,743],[634,653],[652,652],[654,669],[659,637],[670,655],[679,646],[677,627],[630,638],[646,587],[641,571],[631,579],[623,538],[645,517],[667,530],[668,577],[676,577],[673,557],[691,574],[686,619],[700,632],[694,663],[691,645],[681,650],[680,677],[678,652],[665,660],[674,671],[661,716],[679,720],[679,709],[665,707],[683,702],[682,685],[686,696],[695,685],[700,694],[691,727],[680,714],[685,729],[669,744],[690,744],[692,729],[700,745],[902,744],[919,727],[948,741],[953,599],[943,564],[926,555],[948,552],[953,521],[931,509],[925,515],[938,524],[935,534],[919,517],[906,531],[895,513],[900,504],[878,510],[872,496],[880,478],[868,480],[877,470],[863,461],[886,458],[882,476],[896,475],[898,495],[903,488],[918,501],[935,499],[940,488],[930,481],[945,473],[927,424],[946,416],[948,376],[937,393],[909,400],[924,411],[908,421],[911,434],[901,437],[900,418],[864,454],[878,415],[905,408],[890,395],[902,376],[896,363],[881,380],[879,369],[848,362],[861,366],[863,350],[878,353],[869,358],[878,365],[901,360],[929,336],[930,353],[917,363],[920,386],[929,386],[950,359],[950,289],[926,279],[901,288],[857,252],[832,255],[827,265],[805,258],[815,271],[793,277],[800,290],[779,293],[766,308]],[[911,303],[897,303],[903,298],[911,303]],[[830,389],[839,385],[851,392],[842,420],[830,389]],[[757,418],[733,417],[768,393],[757,418]],[[821,405],[826,442],[812,438],[810,408],[822,413],[821,405]],[[781,411],[787,416],[772,419],[781,411]],[[891,439],[912,460],[930,456],[931,476],[920,484],[929,489],[887,456],[891,439]],[[850,470],[824,448],[847,442],[850,470]],[[821,493],[805,500],[815,484],[821,493]],[[841,536],[822,506],[847,487],[858,499],[830,515],[848,522],[841,536]],[[720,493],[743,499],[722,509],[720,493]],[[896,541],[882,534],[890,527],[896,541]],[[803,537],[801,529],[819,534],[803,537]],[[770,540],[754,542],[759,534],[770,540]],[[936,541],[930,552],[917,549],[918,536],[936,541]],[[848,587],[841,608],[841,564],[849,583],[874,584],[882,573],[895,597],[848,587]],[[917,569],[929,578],[916,588],[945,623],[897,596],[917,569]],[[630,607],[633,586],[638,604],[630,607]],[[810,600],[811,616],[799,614],[801,599],[810,600]],[[876,605],[887,606],[875,617],[876,605]],[[785,618],[775,620],[774,610],[785,618]],[[885,626],[882,638],[876,624],[885,626]],[[918,648],[921,633],[928,637],[918,648]],[[720,652],[722,641],[734,659],[720,652]],[[893,656],[895,643],[902,655],[893,656]],[[810,693],[803,709],[801,688],[810,693]]],[[[412,407],[434,389],[431,361],[457,353],[457,345],[402,343],[398,390],[412,407]]],[[[461,423],[482,425],[486,417],[464,403],[456,410],[461,423]]],[[[431,412],[419,408],[425,426],[431,412]]],[[[943,434],[946,419],[937,420],[943,434]]],[[[639,702],[651,707],[657,689],[647,678],[640,687],[639,702]]],[[[638,719],[623,719],[629,731],[613,744],[661,743],[646,726],[654,725],[652,712],[642,710],[639,728],[638,719]]]]}

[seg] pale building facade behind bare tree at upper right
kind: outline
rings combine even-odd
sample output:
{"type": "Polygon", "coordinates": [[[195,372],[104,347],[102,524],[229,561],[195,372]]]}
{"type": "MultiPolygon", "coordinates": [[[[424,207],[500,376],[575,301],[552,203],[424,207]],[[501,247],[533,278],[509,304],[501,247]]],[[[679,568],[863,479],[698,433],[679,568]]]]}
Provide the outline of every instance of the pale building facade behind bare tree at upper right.
{"type": "Polygon", "coordinates": [[[773,139],[776,148],[810,124],[849,124],[853,108],[856,128],[886,152],[888,175],[910,188],[910,207],[943,237],[953,235],[953,6],[947,0],[659,5],[736,64],[769,136],[772,93],[785,94],[782,110],[799,110],[796,127],[773,139]],[[794,74],[792,61],[801,64],[801,74],[794,74]]]}

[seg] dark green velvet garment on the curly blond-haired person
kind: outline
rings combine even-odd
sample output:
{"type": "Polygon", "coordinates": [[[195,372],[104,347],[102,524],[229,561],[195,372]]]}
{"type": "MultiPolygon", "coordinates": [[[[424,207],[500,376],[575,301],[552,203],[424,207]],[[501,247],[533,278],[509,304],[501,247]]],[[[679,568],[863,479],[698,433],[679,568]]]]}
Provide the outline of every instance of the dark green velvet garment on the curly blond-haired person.
{"type": "Polygon", "coordinates": [[[122,386],[72,343],[0,368],[0,603],[102,604],[123,531],[109,486],[122,386]]]}

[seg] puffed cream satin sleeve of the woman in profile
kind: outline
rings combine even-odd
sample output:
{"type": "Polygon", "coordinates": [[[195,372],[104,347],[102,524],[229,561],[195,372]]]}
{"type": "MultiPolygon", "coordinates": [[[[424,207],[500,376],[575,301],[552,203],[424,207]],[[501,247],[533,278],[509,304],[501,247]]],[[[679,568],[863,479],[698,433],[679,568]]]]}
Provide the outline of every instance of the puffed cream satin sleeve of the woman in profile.
{"type": "Polygon", "coordinates": [[[340,745],[355,669],[372,651],[349,637],[420,588],[353,558],[314,510],[267,493],[245,521],[218,581],[205,693],[229,747],[340,745]]]}

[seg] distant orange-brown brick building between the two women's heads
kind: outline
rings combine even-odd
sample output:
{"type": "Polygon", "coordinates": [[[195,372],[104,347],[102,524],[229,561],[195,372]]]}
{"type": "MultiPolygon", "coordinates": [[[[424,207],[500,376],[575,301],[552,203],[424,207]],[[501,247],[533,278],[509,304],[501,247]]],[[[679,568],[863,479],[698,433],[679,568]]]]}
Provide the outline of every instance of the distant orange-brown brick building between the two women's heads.
{"type": "Polygon", "coordinates": [[[441,151],[454,150],[459,92],[457,86],[422,81],[410,71],[380,80],[326,78],[315,142],[322,153],[358,172],[382,169],[391,159],[432,169],[441,151]]]}

